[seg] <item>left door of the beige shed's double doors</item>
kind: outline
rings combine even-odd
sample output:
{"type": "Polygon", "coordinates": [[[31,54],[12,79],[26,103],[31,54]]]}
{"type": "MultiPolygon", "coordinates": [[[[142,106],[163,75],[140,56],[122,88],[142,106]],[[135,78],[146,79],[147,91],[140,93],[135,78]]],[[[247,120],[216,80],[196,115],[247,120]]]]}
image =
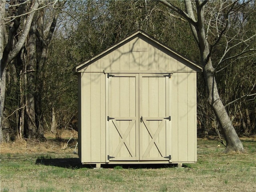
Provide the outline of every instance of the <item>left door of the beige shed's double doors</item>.
{"type": "Polygon", "coordinates": [[[108,160],[138,160],[138,74],[108,74],[108,160]]]}

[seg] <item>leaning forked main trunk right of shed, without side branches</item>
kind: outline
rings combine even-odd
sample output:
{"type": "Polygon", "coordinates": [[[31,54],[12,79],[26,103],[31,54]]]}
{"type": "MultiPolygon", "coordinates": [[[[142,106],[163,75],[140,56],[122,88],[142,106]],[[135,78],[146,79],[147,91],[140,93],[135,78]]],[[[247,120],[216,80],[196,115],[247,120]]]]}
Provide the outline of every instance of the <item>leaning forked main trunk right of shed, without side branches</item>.
{"type": "Polygon", "coordinates": [[[226,152],[244,151],[242,142],[238,138],[234,126],[228,116],[228,113],[220,100],[218,88],[215,80],[215,69],[212,66],[210,46],[206,37],[204,28],[204,5],[206,2],[196,1],[197,21],[195,21],[191,1],[185,1],[186,10],[192,21],[190,27],[198,43],[200,50],[201,65],[203,66],[204,80],[208,88],[208,102],[216,115],[220,124],[222,134],[226,140],[226,152]]]}

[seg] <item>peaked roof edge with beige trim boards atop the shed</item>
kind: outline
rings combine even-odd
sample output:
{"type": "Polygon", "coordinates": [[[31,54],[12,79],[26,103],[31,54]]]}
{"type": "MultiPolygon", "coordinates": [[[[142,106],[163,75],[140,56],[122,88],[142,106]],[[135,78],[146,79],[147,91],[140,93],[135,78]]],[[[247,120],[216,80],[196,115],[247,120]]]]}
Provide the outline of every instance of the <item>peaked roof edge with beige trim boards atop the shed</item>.
{"type": "Polygon", "coordinates": [[[123,42],[133,38],[134,36],[141,34],[143,36],[145,36],[146,38],[152,40],[153,42],[155,42],[156,44],[158,44],[158,46],[161,46],[163,48],[165,48],[166,50],[172,52],[173,54],[175,54],[176,56],[183,58],[184,60],[186,60],[188,63],[192,64],[192,66],[195,66],[199,71],[202,71],[202,66],[200,66],[199,64],[197,64],[196,62],[190,60],[189,58],[187,58],[186,56],[180,54],[179,52],[173,50],[172,48],[168,47],[167,45],[163,44],[162,42],[160,42],[159,40],[157,40],[156,38],[150,36],[149,34],[147,34],[146,32],[142,31],[142,30],[138,30],[136,32],[134,32],[133,34],[131,34],[130,36],[124,38],[123,40],[117,42],[116,44],[110,46],[109,48],[107,48],[106,50],[104,50],[103,52],[101,52],[100,54],[86,60],[85,62],[83,62],[82,64],[79,64],[77,66],[75,66],[73,68],[73,74],[77,74],[86,64],[88,64],[89,62],[92,63],[94,60],[97,60],[100,56],[102,56],[103,54],[106,54],[107,52],[111,52],[112,50],[114,50],[114,48],[116,48],[117,46],[119,46],[120,44],[122,44],[123,42]]]}

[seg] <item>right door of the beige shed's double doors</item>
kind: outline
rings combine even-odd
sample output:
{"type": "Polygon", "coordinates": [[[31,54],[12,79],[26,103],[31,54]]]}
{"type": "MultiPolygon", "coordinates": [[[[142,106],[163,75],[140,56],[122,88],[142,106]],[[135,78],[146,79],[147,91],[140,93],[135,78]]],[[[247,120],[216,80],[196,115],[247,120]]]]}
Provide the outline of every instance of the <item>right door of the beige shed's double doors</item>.
{"type": "Polygon", "coordinates": [[[169,75],[140,74],[140,160],[170,160],[169,75]]]}

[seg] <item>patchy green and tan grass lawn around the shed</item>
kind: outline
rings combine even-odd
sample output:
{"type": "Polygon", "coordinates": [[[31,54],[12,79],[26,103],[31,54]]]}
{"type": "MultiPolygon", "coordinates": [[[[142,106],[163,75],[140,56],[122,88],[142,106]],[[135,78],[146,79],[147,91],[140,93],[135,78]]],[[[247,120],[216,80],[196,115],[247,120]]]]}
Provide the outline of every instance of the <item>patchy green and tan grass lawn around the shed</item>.
{"type": "MultiPolygon", "coordinates": [[[[245,153],[224,154],[217,140],[198,139],[198,162],[175,166],[81,165],[72,150],[1,150],[1,191],[256,191],[256,141],[243,141],[245,153]]],[[[42,146],[43,144],[40,143],[42,146]]],[[[11,146],[9,146],[11,147],[11,146]]],[[[4,149],[4,148],[3,148],[4,149]]]]}

